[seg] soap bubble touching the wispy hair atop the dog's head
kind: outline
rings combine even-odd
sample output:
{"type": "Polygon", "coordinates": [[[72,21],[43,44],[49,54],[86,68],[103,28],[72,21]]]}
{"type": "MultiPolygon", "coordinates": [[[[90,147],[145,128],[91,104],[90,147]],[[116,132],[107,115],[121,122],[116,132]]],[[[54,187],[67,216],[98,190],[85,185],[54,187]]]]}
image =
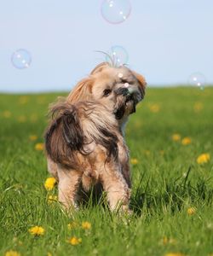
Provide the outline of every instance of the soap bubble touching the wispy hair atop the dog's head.
{"type": "Polygon", "coordinates": [[[106,61],[112,63],[114,67],[120,67],[127,64],[129,56],[123,46],[115,45],[112,46],[108,51],[106,61]]]}

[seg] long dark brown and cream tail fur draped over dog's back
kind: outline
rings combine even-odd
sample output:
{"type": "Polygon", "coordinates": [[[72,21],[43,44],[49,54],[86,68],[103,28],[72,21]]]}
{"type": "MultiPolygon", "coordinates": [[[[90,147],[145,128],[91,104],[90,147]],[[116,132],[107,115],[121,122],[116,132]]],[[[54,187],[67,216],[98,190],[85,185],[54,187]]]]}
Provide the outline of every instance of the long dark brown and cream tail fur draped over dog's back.
{"type": "Polygon", "coordinates": [[[52,121],[45,132],[49,157],[62,166],[81,170],[78,153],[86,158],[92,153],[89,144],[96,143],[107,150],[107,159],[118,157],[118,137],[113,132],[118,124],[100,103],[68,102],[55,104],[50,110],[52,121]],[[106,116],[102,119],[100,111],[106,116]]]}

